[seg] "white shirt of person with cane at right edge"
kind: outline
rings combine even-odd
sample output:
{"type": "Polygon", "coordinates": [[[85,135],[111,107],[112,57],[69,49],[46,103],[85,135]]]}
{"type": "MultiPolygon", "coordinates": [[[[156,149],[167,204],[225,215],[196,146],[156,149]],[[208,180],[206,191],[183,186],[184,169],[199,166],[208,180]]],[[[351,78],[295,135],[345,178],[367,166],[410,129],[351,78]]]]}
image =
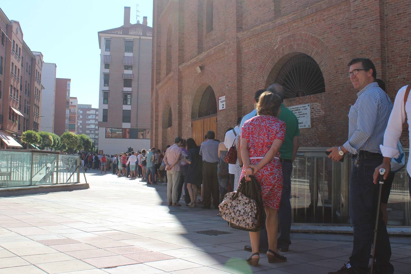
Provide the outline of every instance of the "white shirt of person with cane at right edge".
{"type": "MultiPolygon", "coordinates": [[[[399,156],[397,144],[402,134],[402,124],[405,122],[405,117],[408,117],[408,131],[411,144],[411,98],[410,95],[408,95],[407,103],[404,108],[404,95],[406,88],[407,85],[400,88],[397,96],[395,97],[393,111],[391,111],[390,120],[388,120],[387,128],[384,134],[384,145],[380,145],[381,153],[384,157],[396,158],[399,156]]],[[[411,174],[410,156],[411,154],[409,155],[407,163],[407,172],[409,175],[411,174]]]]}

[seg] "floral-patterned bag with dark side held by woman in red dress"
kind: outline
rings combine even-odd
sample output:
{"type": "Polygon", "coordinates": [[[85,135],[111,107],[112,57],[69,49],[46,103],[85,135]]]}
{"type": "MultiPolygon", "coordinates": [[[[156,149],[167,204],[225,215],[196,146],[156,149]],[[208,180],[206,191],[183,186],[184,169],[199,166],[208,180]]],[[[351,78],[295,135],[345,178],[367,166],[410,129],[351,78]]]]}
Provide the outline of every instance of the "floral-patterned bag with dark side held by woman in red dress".
{"type": "Polygon", "coordinates": [[[253,176],[246,182],[242,177],[237,191],[227,193],[219,205],[221,216],[229,227],[256,232],[262,228],[263,201],[260,185],[253,176]]]}

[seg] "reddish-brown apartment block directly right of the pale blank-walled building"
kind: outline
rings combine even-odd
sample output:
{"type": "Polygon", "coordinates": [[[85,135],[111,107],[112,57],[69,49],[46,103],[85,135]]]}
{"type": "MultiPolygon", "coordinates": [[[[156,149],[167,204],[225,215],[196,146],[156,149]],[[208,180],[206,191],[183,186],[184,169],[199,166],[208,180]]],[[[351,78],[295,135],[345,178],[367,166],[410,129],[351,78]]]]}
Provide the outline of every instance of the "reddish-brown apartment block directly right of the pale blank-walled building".
{"type": "Polygon", "coordinates": [[[54,133],[69,131],[69,101],[71,79],[55,78],[54,133]]]}

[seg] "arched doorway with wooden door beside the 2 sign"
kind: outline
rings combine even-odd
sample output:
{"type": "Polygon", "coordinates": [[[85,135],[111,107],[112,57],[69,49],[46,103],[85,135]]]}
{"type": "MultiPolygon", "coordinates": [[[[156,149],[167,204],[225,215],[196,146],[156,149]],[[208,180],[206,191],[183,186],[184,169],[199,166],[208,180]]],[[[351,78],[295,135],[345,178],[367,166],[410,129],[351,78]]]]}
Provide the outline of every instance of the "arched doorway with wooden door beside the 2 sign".
{"type": "Polygon", "coordinates": [[[210,85],[200,87],[194,97],[192,109],[192,138],[200,145],[204,141],[207,131],[212,130],[217,136],[217,101],[214,90],[210,85]],[[199,99],[199,97],[201,98],[199,99]],[[196,104],[198,102],[198,104],[196,104]]]}

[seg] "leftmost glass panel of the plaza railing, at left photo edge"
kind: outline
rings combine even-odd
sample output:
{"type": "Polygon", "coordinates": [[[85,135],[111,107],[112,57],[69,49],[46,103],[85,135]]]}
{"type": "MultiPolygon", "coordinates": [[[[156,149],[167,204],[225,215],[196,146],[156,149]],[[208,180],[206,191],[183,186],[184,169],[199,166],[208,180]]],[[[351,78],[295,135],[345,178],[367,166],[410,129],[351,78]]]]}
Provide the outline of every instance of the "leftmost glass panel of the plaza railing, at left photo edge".
{"type": "Polygon", "coordinates": [[[18,187],[31,184],[30,152],[0,150],[0,187],[18,187]]]}

